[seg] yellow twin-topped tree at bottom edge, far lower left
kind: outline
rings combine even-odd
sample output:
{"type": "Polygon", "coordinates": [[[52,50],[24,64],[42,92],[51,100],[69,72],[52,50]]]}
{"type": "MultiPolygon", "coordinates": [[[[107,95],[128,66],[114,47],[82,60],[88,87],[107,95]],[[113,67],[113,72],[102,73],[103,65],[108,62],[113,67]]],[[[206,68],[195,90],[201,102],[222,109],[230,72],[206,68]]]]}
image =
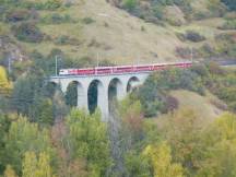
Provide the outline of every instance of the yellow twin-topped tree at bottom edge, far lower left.
{"type": "Polygon", "coordinates": [[[50,167],[50,157],[46,153],[40,153],[37,160],[34,152],[26,152],[22,173],[22,177],[55,177],[50,167]]]}

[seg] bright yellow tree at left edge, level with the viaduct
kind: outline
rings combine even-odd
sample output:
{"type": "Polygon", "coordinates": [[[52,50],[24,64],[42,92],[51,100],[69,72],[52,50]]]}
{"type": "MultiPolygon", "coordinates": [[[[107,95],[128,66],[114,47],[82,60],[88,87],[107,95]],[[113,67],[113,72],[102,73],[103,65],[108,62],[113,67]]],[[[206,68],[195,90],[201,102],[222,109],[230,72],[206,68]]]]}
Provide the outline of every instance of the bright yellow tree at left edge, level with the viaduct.
{"type": "Polygon", "coordinates": [[[9,95],[12,84],[8,81],[5,69],[0,66],[0,94],[9,95]]]}

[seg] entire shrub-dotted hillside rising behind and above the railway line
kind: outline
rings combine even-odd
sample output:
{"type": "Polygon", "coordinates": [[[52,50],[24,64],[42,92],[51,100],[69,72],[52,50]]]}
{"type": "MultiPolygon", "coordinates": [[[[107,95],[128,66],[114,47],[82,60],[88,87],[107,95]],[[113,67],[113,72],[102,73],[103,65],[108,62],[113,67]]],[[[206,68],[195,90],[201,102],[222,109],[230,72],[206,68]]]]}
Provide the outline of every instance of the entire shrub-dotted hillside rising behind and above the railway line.
{"type": "Polygon", "coordinates": [[[133,62],[133,58],[139,58],[138,56],[149,62],[190,58],[191,47],[194,58],[205,60],[236,56],[235,9],[231,1],[108,1],[119,10],[106,2],[99,4],[98,1],[2,1],[1,63],[8,62],[8,58],[14,61],[31,60],[31,52],[35,49],[47,56],[55,48],[74,60],[84,57],[95,60],[98,55],[101,59],[113,61],[111,58],[116,58],[126,63],[133,62]],[[101,15],[98,5],[106,5],[104,15],[101,15]],[[131,15],[125,17],[120,9],[131,15]],[[116,22],[118,19],[120,28],[116,22]],[[128,36],[120,34],[122,28],[128,36]],[[98,33],[103,35],[98,36],[98,33]],[[106,34],[111,35],[110,40],[104,40],[106,34]],[[226,36],[223,42],[221,36],[226,36]],[[137,46],[139,39],[143,43],[137,46]]]}

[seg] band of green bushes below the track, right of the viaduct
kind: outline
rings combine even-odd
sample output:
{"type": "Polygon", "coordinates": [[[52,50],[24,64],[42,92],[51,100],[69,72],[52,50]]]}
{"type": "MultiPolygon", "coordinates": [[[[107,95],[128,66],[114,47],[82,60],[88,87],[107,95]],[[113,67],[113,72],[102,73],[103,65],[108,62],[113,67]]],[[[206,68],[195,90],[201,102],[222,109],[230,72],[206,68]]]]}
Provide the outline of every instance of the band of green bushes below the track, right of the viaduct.
{"type": "MultiPolygon", "coordinates": [[[[190,70],[173,69],[153,73],[131,96],[141,102],[148,117],[165,114],[178,108],[178,102],[169,95],[170,90],[188,90],[204,95],[206,90],[227,103],[228,109],[235,107],[235,71],[222,70],[215,63],[197,64],[190,70]]],[[[215,103],[225,109],[224,104],[215,103]]]]}

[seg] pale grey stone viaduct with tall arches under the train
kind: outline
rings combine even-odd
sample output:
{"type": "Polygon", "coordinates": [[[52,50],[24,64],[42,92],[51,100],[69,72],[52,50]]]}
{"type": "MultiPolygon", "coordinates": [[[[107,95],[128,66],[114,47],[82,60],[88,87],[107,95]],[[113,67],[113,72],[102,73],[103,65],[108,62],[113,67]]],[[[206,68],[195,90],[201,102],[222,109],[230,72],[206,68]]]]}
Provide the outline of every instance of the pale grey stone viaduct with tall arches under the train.
{"type": "Polygon", "coordinates": [[[88,111],[88,90],[91,85],[96,85],[97,107],[102,111],[104,121],[109,116],[109,87],[116,88],[117,99],[122,99],[134,86],[142,84],[149,76],[150,72],[122,73],[122,74],[103,74],[103,75],[67,75],[51,76],[49,82],[60,85],[61,91],[66,94],[70,83],[75,83],[78,87],[78,107],[85,108],[88,111]]]}

